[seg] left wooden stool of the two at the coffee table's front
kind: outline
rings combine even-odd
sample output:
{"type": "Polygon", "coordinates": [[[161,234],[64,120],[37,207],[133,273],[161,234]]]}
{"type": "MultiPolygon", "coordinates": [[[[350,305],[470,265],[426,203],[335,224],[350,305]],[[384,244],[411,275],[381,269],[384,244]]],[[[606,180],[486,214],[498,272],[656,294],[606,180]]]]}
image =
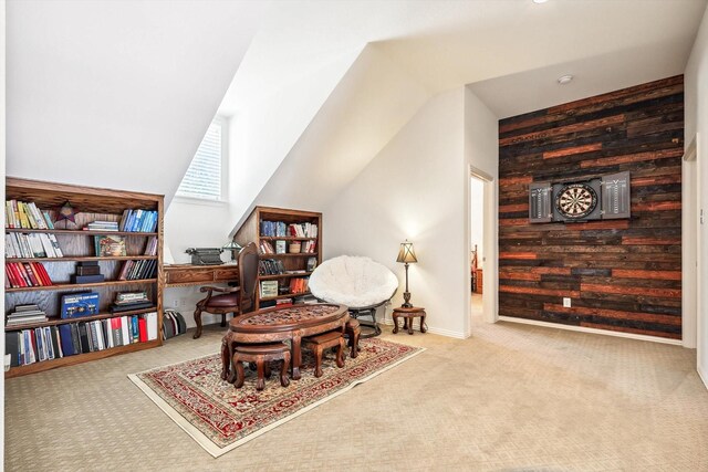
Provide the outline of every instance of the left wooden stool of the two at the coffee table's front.
{"type": "Polygon", "coordinates": [[[236,370],[236,388],[243,387],[246,374],[242,363],[256,363],[256,371],[258,380],[256,380],[256,390],[266,388],[266,377],[270,377],[271,360],[282,360],[280,368],[280,385],[288,387],[290,379],[288,378],[288,369],[290,368],[290,347],[284,343],[266,343],[266,344],[235,344],[233,345],[233,367],[236,370]]]}

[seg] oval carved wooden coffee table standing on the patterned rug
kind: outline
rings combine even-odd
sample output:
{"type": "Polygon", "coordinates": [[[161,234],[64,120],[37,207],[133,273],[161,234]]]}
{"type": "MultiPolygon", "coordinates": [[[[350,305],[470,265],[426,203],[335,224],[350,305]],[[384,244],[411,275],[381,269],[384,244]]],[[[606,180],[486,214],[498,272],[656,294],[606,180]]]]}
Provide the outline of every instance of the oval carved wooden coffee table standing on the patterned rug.
{"type": "Polygon", "coordinates": [[[346,306],[319,303],[266,308],[231,319],[221,347],[222,368],[227,374],[225,378],[233,371],[233,343],[274,343],[290,339],[292,379],[299,380],[302,338],[331,329],[341,329],[344,333],[348,318],[346,306]]]}

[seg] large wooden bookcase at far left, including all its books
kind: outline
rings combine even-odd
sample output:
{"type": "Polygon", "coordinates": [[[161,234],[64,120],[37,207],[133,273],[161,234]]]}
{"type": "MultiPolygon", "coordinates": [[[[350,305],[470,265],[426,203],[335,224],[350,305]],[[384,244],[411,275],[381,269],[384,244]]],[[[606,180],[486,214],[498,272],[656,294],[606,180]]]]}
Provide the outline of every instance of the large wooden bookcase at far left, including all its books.
{"type": "Polygon", "coordinates": [[[8,177],[6,378],[162,345],[163,196],[8,177]]]}

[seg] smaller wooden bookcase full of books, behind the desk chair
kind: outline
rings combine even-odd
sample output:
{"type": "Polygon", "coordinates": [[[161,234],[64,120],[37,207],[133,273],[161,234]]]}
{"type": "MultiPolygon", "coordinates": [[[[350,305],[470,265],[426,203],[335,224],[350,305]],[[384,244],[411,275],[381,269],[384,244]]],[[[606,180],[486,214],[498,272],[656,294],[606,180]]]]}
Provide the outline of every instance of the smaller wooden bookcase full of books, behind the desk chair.
{"type": "Polygon", "coordinates": [[[235,241],[258,247],[257,308],[298,303],[310,295],[310,274],[322,262],[322,213],[256,207],[235,241]]]}

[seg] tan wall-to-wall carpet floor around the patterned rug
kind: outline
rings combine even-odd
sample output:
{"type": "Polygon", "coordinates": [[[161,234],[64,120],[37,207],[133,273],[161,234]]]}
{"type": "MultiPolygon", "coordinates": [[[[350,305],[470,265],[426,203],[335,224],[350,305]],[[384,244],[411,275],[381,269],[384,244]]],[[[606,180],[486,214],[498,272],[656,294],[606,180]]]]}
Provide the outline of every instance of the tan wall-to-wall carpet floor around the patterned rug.
{"type": "Polygon", "coordinates": [[[6,381],[6,470],[707,471],[695,350],[499,323],[212,459],[126,377],[218,350],[221,329],[6,381]]]}

